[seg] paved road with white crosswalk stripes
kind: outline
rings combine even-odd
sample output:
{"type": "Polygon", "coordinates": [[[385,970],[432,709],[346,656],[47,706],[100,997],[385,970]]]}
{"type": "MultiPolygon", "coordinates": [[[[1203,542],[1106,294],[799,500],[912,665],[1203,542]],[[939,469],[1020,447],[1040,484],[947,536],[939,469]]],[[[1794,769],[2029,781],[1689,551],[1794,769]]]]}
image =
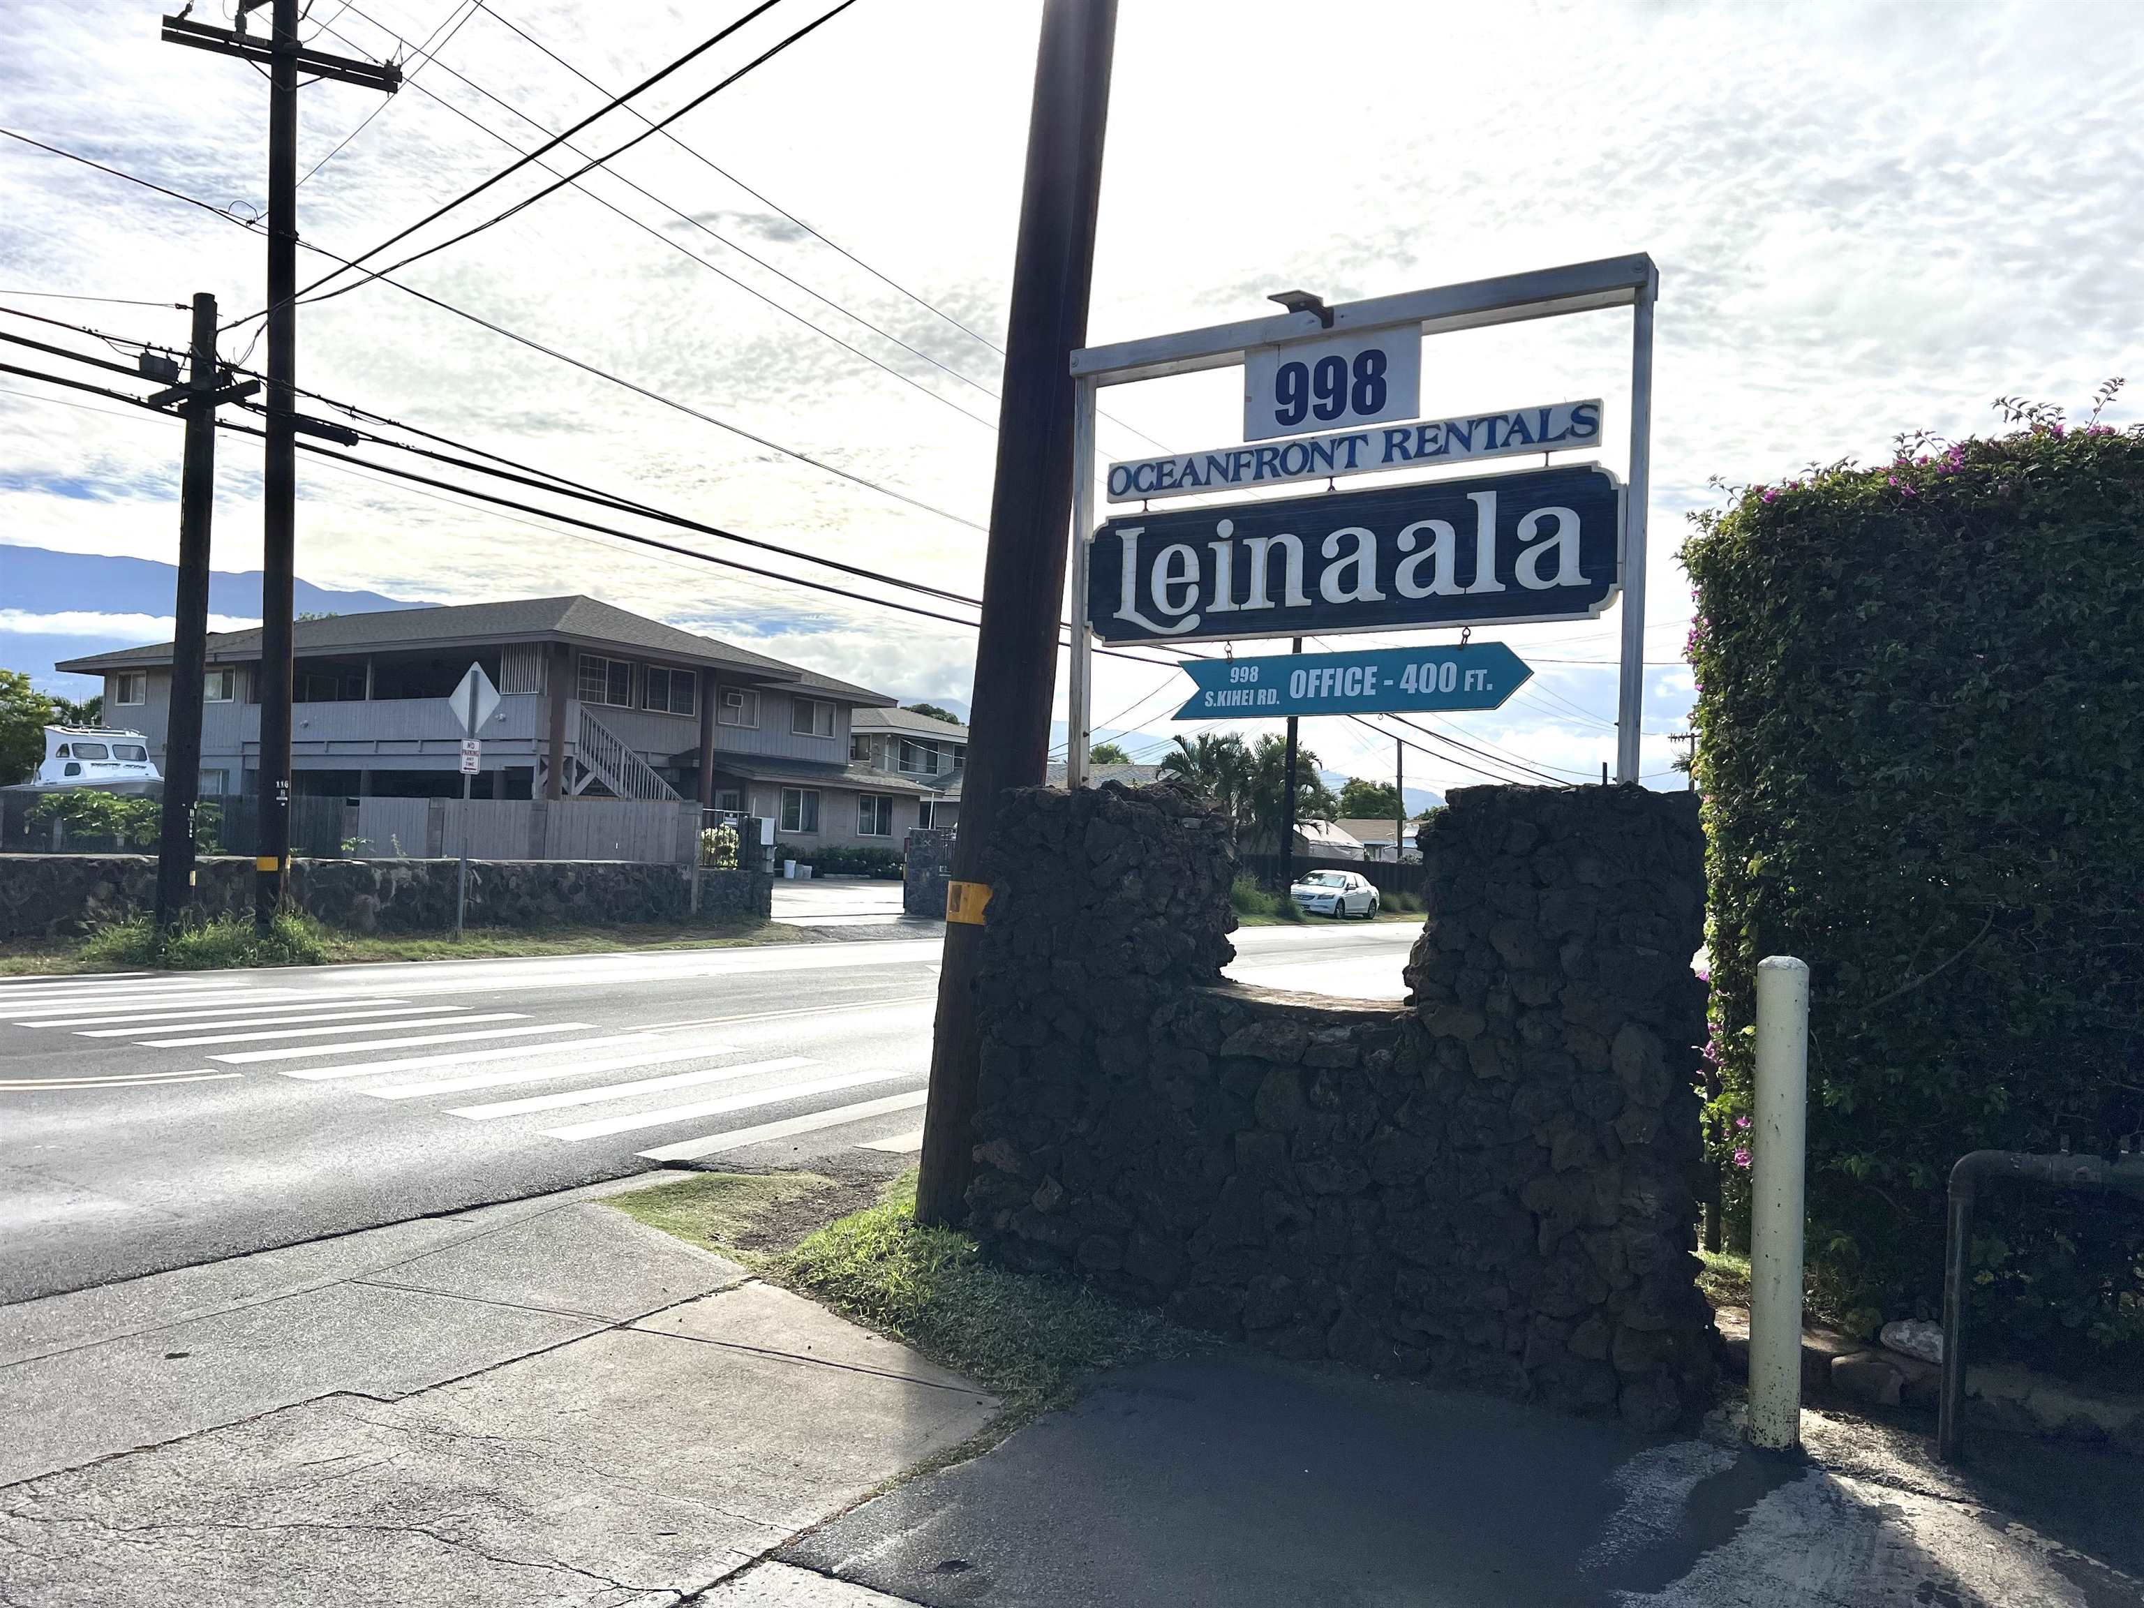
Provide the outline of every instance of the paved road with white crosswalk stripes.
{"type": "MultiPolygon", "coordinates": [[[[898,1166],[937,933],[534,961],[0,980],[0,1301],[639,1173],[898,1166]]],[[[1235,976],[1400,993],[1406,924],[1235,976]]]]}

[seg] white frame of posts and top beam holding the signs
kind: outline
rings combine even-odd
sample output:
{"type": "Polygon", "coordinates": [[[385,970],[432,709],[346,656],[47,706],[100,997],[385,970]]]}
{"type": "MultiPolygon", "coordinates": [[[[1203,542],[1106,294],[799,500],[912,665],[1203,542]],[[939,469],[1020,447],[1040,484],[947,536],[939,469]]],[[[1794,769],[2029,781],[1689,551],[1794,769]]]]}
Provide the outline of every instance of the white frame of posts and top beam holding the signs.
{"type": "Polygon", "coordinates": [[[1252,347],[1314,341],[1325,330],[1355,334],[1415,324],[1421,334],[1522,324],[1606,307],[1632,309],[1629,358],[1629,470],[1623,500],[1623,615],[1621,678],[1617,688],[1619,783],[1638,780],[1638,733],[1644,710],[1644,527],[1653,470],[1653,304],[1659,268],[1644,253],[1602,257],[1563,268],[1499,274],[1460,285],[1374,296],[1278,317],[1216,324],[1203,330],[1156,334],[1072,354],[1072,699],[1066,744],[1066,780],[1087,785],[1087,746],[1093,740],[1093,635],[1087,628],[1087,538],[1093,534],[1096,401],[1102,386],[1203,373],[1244,362],[1252,347]]]}

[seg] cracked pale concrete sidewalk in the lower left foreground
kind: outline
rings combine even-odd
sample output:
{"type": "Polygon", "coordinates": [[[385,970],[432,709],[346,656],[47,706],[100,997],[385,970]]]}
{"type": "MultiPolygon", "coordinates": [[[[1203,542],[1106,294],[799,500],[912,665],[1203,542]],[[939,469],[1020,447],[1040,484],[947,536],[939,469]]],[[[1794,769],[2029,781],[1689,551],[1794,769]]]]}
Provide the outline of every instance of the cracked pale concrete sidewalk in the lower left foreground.
{"type": "Polygon", "coordinates": [[[680,1602],[991,1419],[622,1188],[0,1308],[0,1602],[680,1602]]]}

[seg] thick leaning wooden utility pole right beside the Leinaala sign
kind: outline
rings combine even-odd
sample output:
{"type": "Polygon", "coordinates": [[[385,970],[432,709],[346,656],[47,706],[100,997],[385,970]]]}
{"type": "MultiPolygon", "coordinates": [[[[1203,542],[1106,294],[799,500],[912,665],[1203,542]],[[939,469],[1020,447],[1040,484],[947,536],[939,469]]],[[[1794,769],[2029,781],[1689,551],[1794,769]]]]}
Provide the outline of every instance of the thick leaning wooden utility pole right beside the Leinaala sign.
{"type": "MultiPolygon", "coordinates": [[[[915,1186],[915,1220],[926,1224],[961,1222],[976,1168],[971,1126],[982,1038],[973,984],[982,909],[991,898],[982,864],[997,800],[1008,787],[1033,787],[1046,776],[1072,519],[1072,352],[1087,343],[1115,41],[1117,0],[1046,0],[1012,262],[976,701],[915,1186]]],[[[1072,532],[1074,540],[1081,536],[1072,532]]]]}

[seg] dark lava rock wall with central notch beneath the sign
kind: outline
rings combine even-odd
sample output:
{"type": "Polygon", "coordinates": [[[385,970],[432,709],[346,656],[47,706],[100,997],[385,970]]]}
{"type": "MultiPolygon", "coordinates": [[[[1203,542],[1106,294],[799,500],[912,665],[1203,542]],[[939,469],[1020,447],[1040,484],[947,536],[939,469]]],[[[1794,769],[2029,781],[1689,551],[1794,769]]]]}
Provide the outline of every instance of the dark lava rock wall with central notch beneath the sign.
{"type": "Polygon", "coordinates": [[[1664,1428],[1709,1400],[1687,795],[1456,791],[1404,1008],[1224,984],[1173,787],[1008,800],[969,1226],[1291,1357],[1664,1428]]]}

